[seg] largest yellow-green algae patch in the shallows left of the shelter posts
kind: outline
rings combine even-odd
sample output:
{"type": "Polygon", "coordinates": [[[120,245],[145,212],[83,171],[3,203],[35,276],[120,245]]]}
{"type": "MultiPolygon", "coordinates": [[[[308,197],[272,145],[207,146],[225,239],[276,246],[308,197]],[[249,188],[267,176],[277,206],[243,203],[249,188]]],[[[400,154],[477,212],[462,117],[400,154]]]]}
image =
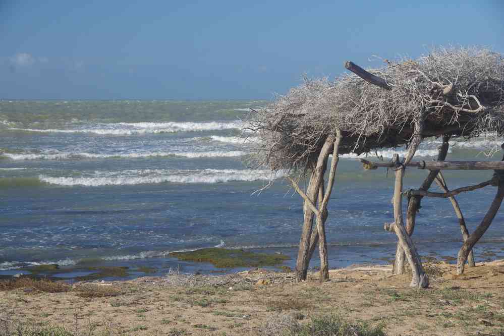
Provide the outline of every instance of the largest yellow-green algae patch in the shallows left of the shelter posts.
{"type": "Polygon", "coordinates": [[[290,259],[283,254],[254,253],[216,247],[190,252],[172,252],[170,256],[185,261],[210,262],[215,267],[222,268],[275,266],[290,259]]]}

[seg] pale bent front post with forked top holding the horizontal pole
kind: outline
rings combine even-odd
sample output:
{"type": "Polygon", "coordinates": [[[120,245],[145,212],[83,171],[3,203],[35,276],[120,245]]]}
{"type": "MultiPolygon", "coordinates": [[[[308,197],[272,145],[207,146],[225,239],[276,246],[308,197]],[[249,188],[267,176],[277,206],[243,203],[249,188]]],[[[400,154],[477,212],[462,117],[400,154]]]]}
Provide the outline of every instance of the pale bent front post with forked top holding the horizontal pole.
{"type": "MultiPolygon", "coordinates": [[[[397,163],[399,161],[399,156],[396,154],[394,161],[397,163]]],[[[412,279],[411,287],[426,288],[429,286],[429,277],[424,272],[422,267],[422,262],[420,256],[415,249],[413,241],[406,232],[403,220],[403,209],[402,209],[402,189],[403,189],[403,177],[404,177],[404,166],[399,167],[396,170],[396,180],[394,185],[394,218],[395,225],[394,230],[399,239],[403,250],[405,251],[406,258],[411,267],[412,279]]]]}

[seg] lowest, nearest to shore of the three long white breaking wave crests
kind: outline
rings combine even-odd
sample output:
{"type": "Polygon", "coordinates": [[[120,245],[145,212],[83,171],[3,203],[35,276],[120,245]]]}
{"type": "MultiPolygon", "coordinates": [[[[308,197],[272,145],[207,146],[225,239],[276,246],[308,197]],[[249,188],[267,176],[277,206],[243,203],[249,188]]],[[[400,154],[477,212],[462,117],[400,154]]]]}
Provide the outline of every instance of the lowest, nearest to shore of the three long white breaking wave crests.
{"type": "Polygon", "coordinates": [[[258,181],[271,180],[279,175],[272,176],[265,170],[194,170],[194,171],[123,171],[123,172],[97,172],[90,177],[50,177],[40,175],[42,182],[60,186],[124,186],[138,184],[158,183],[222,183],[230,181],[258,181]]]}

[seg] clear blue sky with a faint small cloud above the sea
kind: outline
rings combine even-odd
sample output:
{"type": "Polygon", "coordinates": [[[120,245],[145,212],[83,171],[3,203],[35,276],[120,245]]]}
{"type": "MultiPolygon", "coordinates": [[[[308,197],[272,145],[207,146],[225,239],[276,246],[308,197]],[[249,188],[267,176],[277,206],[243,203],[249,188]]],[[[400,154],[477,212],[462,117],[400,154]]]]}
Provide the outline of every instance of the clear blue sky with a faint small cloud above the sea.
{"type": "Polygon", "coordinates": [[[0,0],[0,99],[271,99],[344,61],[504,53],[504,1],[0,0]]]}

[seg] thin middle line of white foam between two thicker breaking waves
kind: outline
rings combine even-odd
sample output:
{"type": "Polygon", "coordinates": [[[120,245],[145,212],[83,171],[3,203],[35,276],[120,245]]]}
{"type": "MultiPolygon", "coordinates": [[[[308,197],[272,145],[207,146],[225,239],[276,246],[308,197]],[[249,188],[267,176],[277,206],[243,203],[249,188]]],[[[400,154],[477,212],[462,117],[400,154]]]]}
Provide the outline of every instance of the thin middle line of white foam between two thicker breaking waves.
{"type": "Polygon", "coordinates": [[[98,153],[65,153],[65,152],[53,152],[53,153],[26,153],[26,154],[12,154],[3,153],[2,155],[7,156],[13,160],[65,160],[65,159],[78,159],[78,158],[141,158],[141,157],[162,157],[162,156],[180,156],[188,158],[199,158],[199,157],[238,157],[246,155],[247,152],[241,150],[232,151],[206,151],[206,152],[134,152],[134,153],[109,153],[109,154],[98,154],[98,153]]]}

